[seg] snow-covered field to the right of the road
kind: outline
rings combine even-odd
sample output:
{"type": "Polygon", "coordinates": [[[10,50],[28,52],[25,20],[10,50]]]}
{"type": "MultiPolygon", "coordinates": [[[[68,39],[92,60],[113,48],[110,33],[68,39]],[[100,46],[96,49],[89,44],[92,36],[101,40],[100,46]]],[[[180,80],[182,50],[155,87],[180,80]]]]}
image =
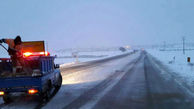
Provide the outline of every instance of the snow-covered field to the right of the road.
{"type": "Polygon", "coordinates": [[[190,88],[194,86],[194,51],[159,51],[157,49],[148,49],[148,53],[167,65],[171,70],[170,73],[178,77],[177,79],[190,88]],[[187,62],[187,58],[191,58],[191,62],[187,62]]]}

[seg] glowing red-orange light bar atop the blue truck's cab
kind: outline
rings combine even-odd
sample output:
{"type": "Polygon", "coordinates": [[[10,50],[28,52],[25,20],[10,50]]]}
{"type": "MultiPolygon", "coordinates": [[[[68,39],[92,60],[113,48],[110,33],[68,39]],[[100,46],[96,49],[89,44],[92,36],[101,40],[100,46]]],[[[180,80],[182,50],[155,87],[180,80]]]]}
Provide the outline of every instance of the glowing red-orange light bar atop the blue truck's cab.
{"type": "Polygon", "coordinates": [[[24,57],[30,57],[30,56],[50,56],[49,52],[25,52],[23,53],[24,57]]]}

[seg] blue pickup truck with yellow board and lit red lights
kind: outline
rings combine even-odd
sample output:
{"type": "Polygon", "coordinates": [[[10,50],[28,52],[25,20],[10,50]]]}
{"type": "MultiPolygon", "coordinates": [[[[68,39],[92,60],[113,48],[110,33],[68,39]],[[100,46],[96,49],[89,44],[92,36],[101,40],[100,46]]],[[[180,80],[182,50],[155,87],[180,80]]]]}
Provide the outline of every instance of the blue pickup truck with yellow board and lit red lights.
{"type": "Polygon", "coordinates": [[[12,101],[13,93],[38,95],[42,101],[60,89],[62,76],[59,65],[54,64],[56,56],[50,56],[44,46],[44,41],[23,42],[25,64],[15,73],[11,59],[0,58],[0,96],[5,103],[12,101]]]}

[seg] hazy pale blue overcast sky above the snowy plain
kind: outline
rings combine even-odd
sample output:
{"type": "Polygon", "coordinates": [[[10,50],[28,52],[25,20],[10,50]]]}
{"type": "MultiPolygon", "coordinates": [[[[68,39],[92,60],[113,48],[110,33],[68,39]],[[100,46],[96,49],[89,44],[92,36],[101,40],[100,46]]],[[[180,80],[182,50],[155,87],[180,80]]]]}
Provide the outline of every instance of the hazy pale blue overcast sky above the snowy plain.
{"type": "Polygon", "coordinates": [[[194,41],[194,0],[1,0],[0,38],[50,49],[194,41]]]}

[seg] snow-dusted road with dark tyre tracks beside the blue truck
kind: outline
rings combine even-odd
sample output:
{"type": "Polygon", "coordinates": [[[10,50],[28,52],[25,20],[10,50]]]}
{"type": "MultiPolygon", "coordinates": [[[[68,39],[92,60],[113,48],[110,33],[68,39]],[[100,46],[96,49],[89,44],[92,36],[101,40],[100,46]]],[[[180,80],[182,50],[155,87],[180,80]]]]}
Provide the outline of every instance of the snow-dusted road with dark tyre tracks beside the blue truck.
{"type": "MultiPolygon", "coordinates": [[[[16,97],[2,109],[193,109],[193,97],[146,52],[62,68],[63,85],[45,104],[16,97]],[[165,74],[166,73],[166,74],[165,74]]],[[[2,101],[1,101],[2,102],[2,101]]]]}

